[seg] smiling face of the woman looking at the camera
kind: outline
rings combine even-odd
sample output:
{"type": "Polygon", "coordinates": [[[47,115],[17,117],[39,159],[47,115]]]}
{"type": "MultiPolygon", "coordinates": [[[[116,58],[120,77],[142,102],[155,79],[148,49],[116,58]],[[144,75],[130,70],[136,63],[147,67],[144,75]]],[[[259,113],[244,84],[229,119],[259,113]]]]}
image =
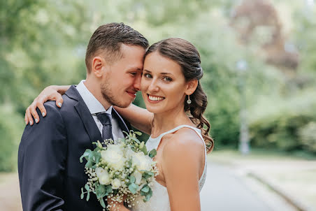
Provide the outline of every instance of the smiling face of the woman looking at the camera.
{"type": "Polygon", "coordinates": [[[141,92],[146,108],[161,113],[183,108],[187,82],[181,66],[159,52],[145,57],[141,92]]]}

